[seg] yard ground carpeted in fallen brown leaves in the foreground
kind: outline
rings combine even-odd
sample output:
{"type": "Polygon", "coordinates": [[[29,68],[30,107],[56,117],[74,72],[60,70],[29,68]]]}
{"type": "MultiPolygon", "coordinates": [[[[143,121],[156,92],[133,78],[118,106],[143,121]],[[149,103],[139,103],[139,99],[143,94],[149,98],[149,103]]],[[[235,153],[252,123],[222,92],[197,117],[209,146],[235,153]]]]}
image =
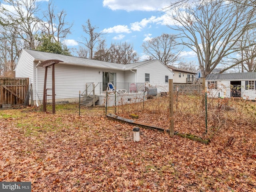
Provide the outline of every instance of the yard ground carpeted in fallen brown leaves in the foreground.
{"type": "MultiPolygon", "coordinates": [[[[138,113],[168,128],[168,116],[138,113]]],[[[203,132],[202,122],[184,126],[186,118],[175,129],[203,132]]],[[[145,128],[134,142],[134,125],[105,117],[105,108],[80,116],[78,109],[1,110],[0,181],[29,181],[33,192],[256,192],[255,127],[225,124],[208,145],[145,128]]]]}

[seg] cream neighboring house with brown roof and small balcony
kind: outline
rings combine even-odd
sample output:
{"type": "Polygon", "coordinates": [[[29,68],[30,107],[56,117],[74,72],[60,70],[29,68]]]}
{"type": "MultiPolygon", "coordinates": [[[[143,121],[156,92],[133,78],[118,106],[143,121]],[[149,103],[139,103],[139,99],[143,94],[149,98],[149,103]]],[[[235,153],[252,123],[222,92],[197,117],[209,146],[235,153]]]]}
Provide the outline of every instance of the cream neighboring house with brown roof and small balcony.
{"type": "Polygon", "coordinates": [[[173,83],[174,84],[192,84],[195,81],[196,73],[188,71],[182,68],[176,68],[174,66],[167,65],[168,68],[174,72],[173,83]]]}

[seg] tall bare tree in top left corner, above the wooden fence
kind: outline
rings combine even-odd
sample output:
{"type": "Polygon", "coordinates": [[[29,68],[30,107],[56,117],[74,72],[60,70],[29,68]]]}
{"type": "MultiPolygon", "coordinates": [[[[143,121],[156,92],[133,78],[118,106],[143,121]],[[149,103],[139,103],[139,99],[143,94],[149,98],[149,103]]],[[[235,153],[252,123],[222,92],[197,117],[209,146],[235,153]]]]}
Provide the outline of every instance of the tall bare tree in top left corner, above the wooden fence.
{"type": "Polygon", "coordinates": [[[15,30],[17,38],[24,40],[28,48],[35,48],[34,34],[38,30],[41,21],[36,17],[39,11],[37,0],[4,0],[0,4],[2,23],[15,30]],[[5,5],[11,7],[6,9],[5,5]]]}

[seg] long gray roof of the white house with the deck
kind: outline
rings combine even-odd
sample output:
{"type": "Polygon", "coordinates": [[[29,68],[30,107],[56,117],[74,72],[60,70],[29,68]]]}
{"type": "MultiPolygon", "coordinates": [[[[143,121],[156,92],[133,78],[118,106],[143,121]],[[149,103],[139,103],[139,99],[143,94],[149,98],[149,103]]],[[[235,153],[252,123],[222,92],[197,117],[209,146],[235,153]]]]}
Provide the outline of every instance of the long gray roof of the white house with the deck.
{"type": "Polygon", "coordinates": [[[61,60],[63,62],[61,62],[60,64],[88,66],[88,67],[94,67],[94,68],[111,68],[116,70],[136,69],[139,66],[156,61],[156,60],[151,60],[151,61],[142,61],[142,62],[136,62],[131,64],[116,64],[116,63],[104,62],[104,61],[93,60],[88,58],[80,58],[80,57],[54,54],[54,53],[29,50],[29,49],[23,49],[22,51],[25,51],[28,54],[30,54],[30,56],[34,58],[34,61],[43,62],[45,60],[61,60]]]}

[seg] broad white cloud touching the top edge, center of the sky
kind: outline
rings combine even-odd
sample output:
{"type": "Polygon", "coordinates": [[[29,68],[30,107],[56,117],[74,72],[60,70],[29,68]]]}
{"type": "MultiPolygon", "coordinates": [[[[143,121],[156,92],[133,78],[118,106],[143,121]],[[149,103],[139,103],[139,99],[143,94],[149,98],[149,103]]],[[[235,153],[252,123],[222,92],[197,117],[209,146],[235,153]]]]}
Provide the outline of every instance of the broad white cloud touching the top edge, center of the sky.
{"type": "Polygon", "coordinates": [[[158,11],[170,5],[170,0],[104,0],[103,6],[111,10],[158,11]]]}

